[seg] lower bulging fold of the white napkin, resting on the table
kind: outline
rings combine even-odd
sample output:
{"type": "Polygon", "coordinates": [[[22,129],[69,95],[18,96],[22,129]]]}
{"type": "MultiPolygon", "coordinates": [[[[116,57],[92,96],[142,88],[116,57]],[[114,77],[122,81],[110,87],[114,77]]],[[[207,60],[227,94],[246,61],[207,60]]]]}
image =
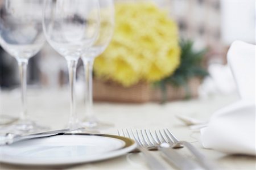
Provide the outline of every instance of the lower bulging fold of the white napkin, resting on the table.
{"type": "Polygon", "coordinates": [[[201,141],[205,148],[255,155],[255,103],[238,101],[216,112],[201,129],[201,141]]]}

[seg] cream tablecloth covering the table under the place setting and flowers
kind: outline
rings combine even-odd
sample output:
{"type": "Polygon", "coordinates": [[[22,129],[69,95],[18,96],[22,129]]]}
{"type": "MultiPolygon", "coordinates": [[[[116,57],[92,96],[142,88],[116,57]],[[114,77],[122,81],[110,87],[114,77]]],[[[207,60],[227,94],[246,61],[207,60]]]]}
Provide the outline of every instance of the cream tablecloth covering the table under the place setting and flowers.
{"type": "MultiPolygon", "coordinates": [[[[29,90],[28,114],[30,118],[47,125],[51,129],[62,129],[67,125],[69,116],[68,90],[29,90]],[[58,120],[58,121],[56,121],[58,120]]],[[[77,114],[84,117],[84,104],[81,95],[77,99],[77,114]]],[[[101,133],[117,134],[117,129],[163,129],[168,128],[178,139],[191,142],[199,148],[209,159],[214,160],[223,169],[256,169],[255,157],[245,155],[227,155],[218,151],[204,149],[200,143],[199,131],[191,130],[175,115],[185,115],[201,120],[209,120],[212,113],[237,101],[237,95],[212,96],[209,99],[193,99],[173,101],[166,104],[121,104],[95,103],[94,113],[104,122],[114,124],[113,128],[101,130],[101,133]]],[[[1,91],[1,114],[18,116],[20,112],[19,90],[1,91]]],[[[184,155],[191,156],[185,148],[180,149],[184,155]]],[[[159,151],[152,151],[160,158],[159,151]]],[[[170,169],[171,164],[164,162],[170,169]]],[[[1,169],[35,169],[36,167],[22,167],[17,165],[0,164],[1,169]]],[[[149,169],[141,153],[130,153],[118,158],[96,163],[86,163],[61,169],[149,169]]]]}

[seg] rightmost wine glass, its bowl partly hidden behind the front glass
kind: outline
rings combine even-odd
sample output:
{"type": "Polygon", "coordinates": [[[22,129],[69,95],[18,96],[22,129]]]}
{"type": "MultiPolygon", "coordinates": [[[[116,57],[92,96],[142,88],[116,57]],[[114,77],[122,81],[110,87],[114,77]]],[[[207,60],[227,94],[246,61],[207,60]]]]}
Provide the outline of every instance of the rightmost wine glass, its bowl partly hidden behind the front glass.
{"type": "Polygon", "coordinates": [[[100,32],[96,42],[90,47],[85,53],[82,54],[81,58],[84,63],[85,70],[85,107],[86,114],[85,120],[81,122],[82,126],[91,129],[101,129],[111,124],[101,122],[97,119],[93,112],[93,94],[92,94],[92,71],[94,58],[100,55],[108,46],[114,29],[114,3],[112,0],[99,0],[100,4],[100,32]]]}

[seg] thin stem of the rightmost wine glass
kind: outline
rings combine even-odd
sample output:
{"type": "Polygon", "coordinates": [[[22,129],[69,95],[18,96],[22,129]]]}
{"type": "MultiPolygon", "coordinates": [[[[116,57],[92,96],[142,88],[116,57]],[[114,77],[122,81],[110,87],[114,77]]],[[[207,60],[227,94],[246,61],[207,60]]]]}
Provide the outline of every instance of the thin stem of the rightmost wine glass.
{"type": "Polygon", "coordinates": [[[89,121],[94,120],[93,113],[93,86],[92,86],[92,72],[93,72],[93,62],[92,58],[83,58],[85,67],[85,116],[89,119],[89,121]]]}

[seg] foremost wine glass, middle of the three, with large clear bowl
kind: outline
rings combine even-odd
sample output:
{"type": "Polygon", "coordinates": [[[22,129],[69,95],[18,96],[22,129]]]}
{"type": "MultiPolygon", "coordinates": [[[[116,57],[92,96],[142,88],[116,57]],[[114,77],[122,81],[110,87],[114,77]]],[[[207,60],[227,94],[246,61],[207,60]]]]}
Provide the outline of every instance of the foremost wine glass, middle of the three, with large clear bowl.
{"type": "Polygon", "coordinates": [[[49,44],[68,63],[70,116],[68,126],[79,126],[75,106],[76,66],[80,56],[93,45],[98,36],[100,7],[95,0],[44,1],[43,29],[49,44]]]}

